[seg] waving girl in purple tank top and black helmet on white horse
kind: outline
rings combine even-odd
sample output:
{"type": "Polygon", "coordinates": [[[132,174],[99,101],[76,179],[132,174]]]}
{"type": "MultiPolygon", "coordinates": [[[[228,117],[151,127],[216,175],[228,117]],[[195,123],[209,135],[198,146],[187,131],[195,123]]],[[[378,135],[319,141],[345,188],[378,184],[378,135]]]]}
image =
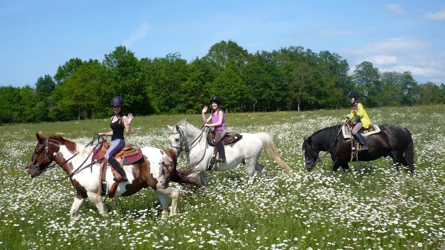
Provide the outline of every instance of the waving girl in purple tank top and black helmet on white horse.
{"type": "Polygon", "coordinates": [[[226,135],[226,117],[224,115],[224,111],[219,108],[221,105],[221,98],[219,96],[214,96],[212,98],[212,111],[209,118],[206,118],[206,112],[208,107],[204,107],[202,109],[202,120],[204,121],[204,126],[206,127],[214,127],[215,130],[215,142],[216,147],[218,147],[219,158],[218,161],[225,162],[226,161],[226,153],[224,151],[224,145],[221,141],[226,135]],[[212,123],[209,124],[212,120],[212,123]]]}

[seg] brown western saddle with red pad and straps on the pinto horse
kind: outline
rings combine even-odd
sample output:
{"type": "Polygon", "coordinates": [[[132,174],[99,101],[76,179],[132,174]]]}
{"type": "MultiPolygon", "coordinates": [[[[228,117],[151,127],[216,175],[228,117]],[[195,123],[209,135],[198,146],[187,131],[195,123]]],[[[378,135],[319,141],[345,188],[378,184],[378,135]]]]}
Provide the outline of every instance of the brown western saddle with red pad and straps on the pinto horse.
{"type": "MultiPolygon", "coordinates": [[[[101,170],[99,171],[100,176],[99,176],[99,189],[97,190],[97,196],[99,197],[99,195],[105,195],[106,194],[106,180],[105,180],[105,176],[106,176],[106,169],[107,166],[110,166],[111,168],[111,172],[113,173],[114,177],[116,177],[117,182],[113,183],[113,186],[111,187],[111,190],[109,192],[109,197],[113,198],[114,193],[116,192],[117,189],[117,183],[121,182],[121,175],[119,175],[119,173],[113,168],[113,166],[111,164],[108,163],[108,160],[105,159],[105,154],[107,153],[108,149],[109,149],[110,145],[109,143],[106,142],[106,139],[103,139],[101,146],[99,148],[95,148],[93,150],[93,156],[91,157],[91,163],[101,163],[101,170]]],[[[127,144],[125,145],[124,148],[122,148],[121,151],[119,151],[119,153],[117,153],[114,156],[114,159],[117,160],[117,162],[119,164],[121,164],[121,167],[123,168],[123,166],[125,165],[131,165],[134,163],[142,163],[144,162],[144,158],[142,155],[142,151],[140,148],[133,148],[133,144],[127,144]]]]}

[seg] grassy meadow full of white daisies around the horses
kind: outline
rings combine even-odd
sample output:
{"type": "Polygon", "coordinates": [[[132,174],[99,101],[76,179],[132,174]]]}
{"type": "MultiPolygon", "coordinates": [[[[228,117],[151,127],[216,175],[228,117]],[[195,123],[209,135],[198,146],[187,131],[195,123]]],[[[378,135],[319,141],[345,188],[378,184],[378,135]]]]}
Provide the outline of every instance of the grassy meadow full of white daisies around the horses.
{"type": "MultiPolygon", "coordinates": [[[[445,106],[367,109],[372,123],[392,123],[413,135],[416,173],[397,172],[392,159],[350,163],[332,174],[330,157],[307,173],[303,136],[335,125],[350,110],[227,114],[231,134],[267,132],[294,169],[287,174],[263,152],[269,180],[256,173],[247,185],[240,164],[206,173],[209,187],[181,188],[178,216],[162,220],[150,188],[129,197],[105,198],[102,217],[87,199],[69,221],[76,195],[60,167],[31,179],[27,167],[36,132],[87,143],[109,131],[109,119],[0,127],[0,249],[445,249],[445,106]]],[[[110,115],[111,117],[111,115],[110,115]]],[[[200,115],[135,117],[135,147],[170,147],[166,124],[200,115]]],[[[178,169],[186,168],[178,158],[178,169]]]]}

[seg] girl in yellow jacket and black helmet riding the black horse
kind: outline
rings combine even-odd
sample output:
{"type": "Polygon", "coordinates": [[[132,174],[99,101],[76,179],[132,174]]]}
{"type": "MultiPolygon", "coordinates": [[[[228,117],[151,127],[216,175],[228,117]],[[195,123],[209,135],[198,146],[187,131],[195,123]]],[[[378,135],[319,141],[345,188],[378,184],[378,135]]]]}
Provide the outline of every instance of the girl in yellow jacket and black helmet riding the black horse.
{"type": "MultiPolygon", "coordinates": [[[[355,123],[356,126],[352,129],[351,133],[352,136],[354,136],[354,139],[356,139],[360,145],[361,148],[357,148],[357,150],[368,150],[368,146],[366,145],[366,140],[364,139],[363,135],[358,133],[362,128],[367,129],[369,125],[371,125],[371,120],[368,117],[368,114],[366,114],[366,111],[364,110],[363,104],[359,102],[359,92],[357,91],[351,91],[349,92],[349,99],[351,99],[352,105],[354,107],[352,108],[351,115],[349,115],[349,119],[353,119],[355,117],[355,123]]],[[[346,119],[344,119],[341,123],[345,123],[346,119]]]]}

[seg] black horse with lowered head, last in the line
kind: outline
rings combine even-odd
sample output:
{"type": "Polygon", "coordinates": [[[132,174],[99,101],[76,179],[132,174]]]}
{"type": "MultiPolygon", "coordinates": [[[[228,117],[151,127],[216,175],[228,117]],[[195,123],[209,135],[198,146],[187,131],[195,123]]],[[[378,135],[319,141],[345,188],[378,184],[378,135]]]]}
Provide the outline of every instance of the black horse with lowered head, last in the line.
{"type": "MultiPolygon", "coordinates": [[[[403,164],[405,167],[409,167],[411,175],[413,175],[414,144],[409,130],[392,124],[379,125],[379,127],[379,133],[364,137],[369,150],[354,153],[352,161],[356,161],[356,154],[358,154],[359,161],[366,162],[389,155],[392,158],[392,163],[397,164],[397,171],[403,164]]],[[[348,162],[352,158],[352,139],[344,139],[340,129],[340,125],[327,127],[314,132],[307,138],[304,137],[302,146],[303,164],[307,171],[311,171],[315,164],[323,159],[320,158],[317,161],[320,151],[331,154],[332,171],[337,171],[339,167],[344,170],[349,169],[348,162]]]]}

